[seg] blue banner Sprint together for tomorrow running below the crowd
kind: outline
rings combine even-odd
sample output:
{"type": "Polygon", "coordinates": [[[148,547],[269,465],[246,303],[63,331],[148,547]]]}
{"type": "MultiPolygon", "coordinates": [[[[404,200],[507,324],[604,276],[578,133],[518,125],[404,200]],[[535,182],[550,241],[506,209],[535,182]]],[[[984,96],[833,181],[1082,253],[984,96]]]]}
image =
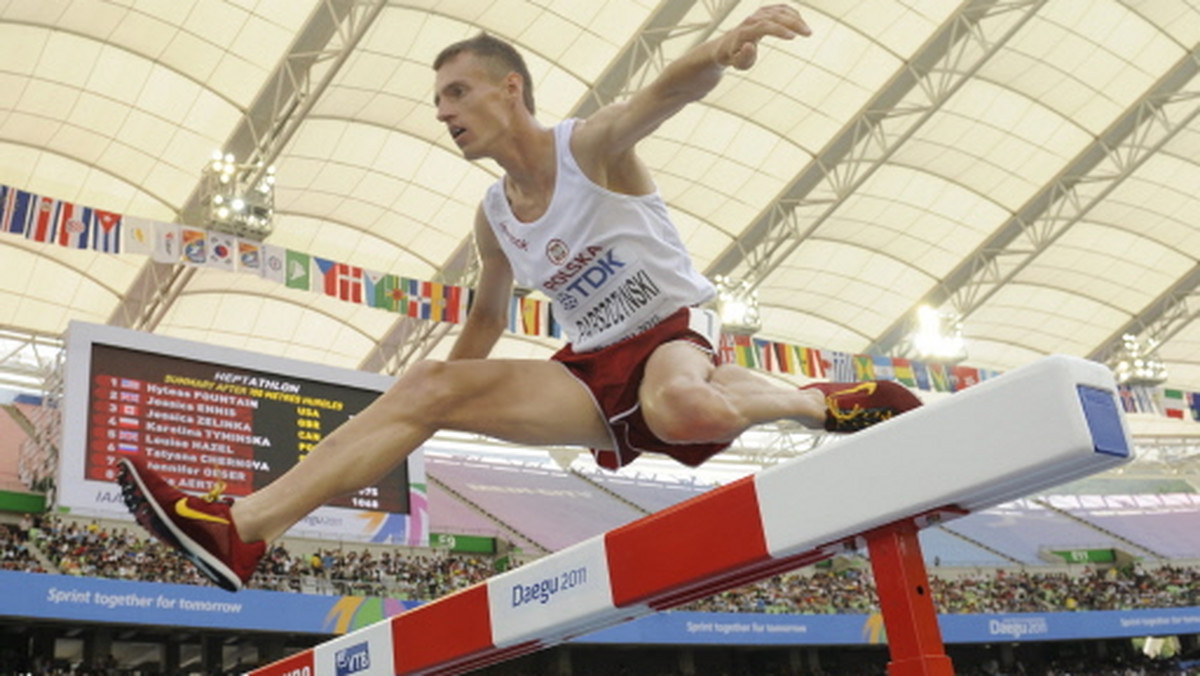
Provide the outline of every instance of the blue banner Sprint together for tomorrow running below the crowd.
{"type": "MultiPolygon", "coordinates": [[[[419,602],[313,596],[131,582],[0,570],[0,616],[210,627],[307,634],[344,634],[420,605],[419,602]]],[[[941,615],[947,644],[1061,641],[1200,633],[1200,608],[941,615]]],[[[757,615],[659,612],[575,639],[631,645],[880,645],[874,615],[757,615]]]]}

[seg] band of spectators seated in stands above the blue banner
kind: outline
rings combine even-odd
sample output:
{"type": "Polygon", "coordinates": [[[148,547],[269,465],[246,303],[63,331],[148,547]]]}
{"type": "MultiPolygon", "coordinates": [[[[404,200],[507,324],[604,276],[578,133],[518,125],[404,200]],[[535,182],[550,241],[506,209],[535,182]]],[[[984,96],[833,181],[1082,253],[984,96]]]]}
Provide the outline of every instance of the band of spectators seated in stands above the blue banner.
{"type": "MultiPolygon", "coordinates": [[[[193,568],[140,531],[26,515],[19,525],[0,525],[0,567],[66,575],[206,585],[193,568]],[[54,570],[50,570],[54,572],[54,570]]],[[[317,549],[293,554],[275,545],[251,581],[254,588],[386,596],[430,600],[496,574],[492,557],[444,551],[407,555],[370,549],[317,549]]],[[[930,578],[942,612],[1050,612],[1200,606],[1200,569],[1164,566],[1079,574],[995,569],[953,578],[930,578]]],[[[876,610],[869,567],[809,568],[716,593],[684,610],[766,614],[865,614],[876,610]]]]}

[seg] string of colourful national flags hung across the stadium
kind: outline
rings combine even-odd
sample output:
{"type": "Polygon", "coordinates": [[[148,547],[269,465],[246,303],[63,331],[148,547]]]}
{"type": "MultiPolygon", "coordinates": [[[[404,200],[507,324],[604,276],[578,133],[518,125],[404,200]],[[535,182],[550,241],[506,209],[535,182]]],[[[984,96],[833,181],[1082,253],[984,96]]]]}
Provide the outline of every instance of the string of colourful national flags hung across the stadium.
{"type": "MultiPolygon", "coordinates": [[[[28,240],[258,275],[288,288],[320,293],[416,319],[462,323],[474,295],[474,289],[469,287],[367,270],[227,233],[82,207],[5,185],[0,185],[0,232],[28,240]]],[[[509,331],[554,339],[563,336],[553,305],[528,295],[512,297],[509,331]]],[[[852,354],[740,334],[721,336],[720,357],[725,363],[775,373],[839,382],[893,379],[925,391],[959,391],[1000,375],[998,371],[973,366],[852,354]]],[[[1129,413],[1156,413],[1200,421],[1200,393],[1122,385],[1120,395],[1122,406],[1129,413]]]]}

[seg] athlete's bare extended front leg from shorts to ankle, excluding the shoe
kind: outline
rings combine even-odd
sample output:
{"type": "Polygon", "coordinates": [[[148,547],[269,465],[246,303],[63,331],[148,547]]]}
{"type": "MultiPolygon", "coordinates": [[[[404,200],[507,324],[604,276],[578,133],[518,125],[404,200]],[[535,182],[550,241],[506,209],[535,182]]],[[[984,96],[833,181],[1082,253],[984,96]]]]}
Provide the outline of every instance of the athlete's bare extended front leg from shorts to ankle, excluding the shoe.
{"type": "Polygon", "coordinates": [[[276,481],[238,501],[246,539],[271,540],[385,474],[438,430],[517,443],[611,445],[588,391],[553,361],[425,361],[276,481]]]}

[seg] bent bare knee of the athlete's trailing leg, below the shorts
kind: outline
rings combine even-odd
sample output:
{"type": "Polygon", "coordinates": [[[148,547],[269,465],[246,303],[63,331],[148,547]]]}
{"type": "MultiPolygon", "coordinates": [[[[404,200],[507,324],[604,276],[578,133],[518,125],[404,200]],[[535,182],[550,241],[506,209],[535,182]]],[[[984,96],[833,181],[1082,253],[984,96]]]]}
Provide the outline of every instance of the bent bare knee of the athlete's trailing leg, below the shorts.
{"type": "Polygon", "coordinates": [[[664,384],[642,408],[650,431],[668,443],[727,441],[742,431],[737,412],[722,396],[683,378],[664,384]]]}

